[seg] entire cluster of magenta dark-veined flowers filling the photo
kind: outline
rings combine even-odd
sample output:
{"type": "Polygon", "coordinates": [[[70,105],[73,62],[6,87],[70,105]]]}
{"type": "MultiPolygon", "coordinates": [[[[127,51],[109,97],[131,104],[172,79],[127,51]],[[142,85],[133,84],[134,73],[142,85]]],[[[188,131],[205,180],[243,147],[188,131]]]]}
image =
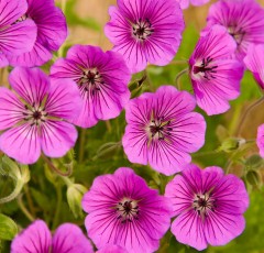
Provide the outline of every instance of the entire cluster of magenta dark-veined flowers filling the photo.
{"type": "MultiPolygon", "coordinates": [[[[67,37],[66,19],[54,0],[0,0],[0,67],[14,67],[11,88],[0,87],[1,152],[21,164],[41,155],[62,157],[75,146],[75,125],[91,128],[124,110],[120,143],[129,162],[166,176],[178,173],[158,184],[164,196],[132,168],[98,176],[81,201],[98,252],[154,252],[169,228],[177,241],[200,251],[227,244],[245,228],[243,182],[217,166],[200,169],[190,164],[190,154],[206,140],[207,122],[196,106],[208,116],[227,112],[229,101],[240,96],[246,68],[263,91],[264,10],[253,0],[211,4],[187,63],[194,96],[166,85],[131,98],[130,81],[142,85],[148,78],[144,73],[139,81],[132,74],[175,57],[185,28],[183,9],[208,1],[118,0],[105,26],[111,51],[73,45],[64,58],[52,59],[67,37]],[[50,75],[37,68],[48,61],[50,75]]],[[[256,144],[264,157],[263,124],[256,144]]],[[[11,252],[94,249],[77,226],[62,224],[52,238],[46,223],[36,220],[15,237],[11,252]]]]}

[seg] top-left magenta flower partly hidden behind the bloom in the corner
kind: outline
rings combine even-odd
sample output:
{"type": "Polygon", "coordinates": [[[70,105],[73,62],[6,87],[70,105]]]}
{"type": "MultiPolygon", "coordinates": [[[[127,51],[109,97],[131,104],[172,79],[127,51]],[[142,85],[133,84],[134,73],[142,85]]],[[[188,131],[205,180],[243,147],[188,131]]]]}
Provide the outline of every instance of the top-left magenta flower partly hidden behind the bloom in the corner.
{"type": "Polygon", "coordinates": [[[55,7],[54,0],[28,0],[28,2],[29,9],[20,13],[19,21],[23,24],[33,20],[37,26],[37,37],[32,51],[8,57],[12,66],[43,65],[53,57],[52,52],[58,51],[67,37],[66,19],[61,9],[55,7]]]}

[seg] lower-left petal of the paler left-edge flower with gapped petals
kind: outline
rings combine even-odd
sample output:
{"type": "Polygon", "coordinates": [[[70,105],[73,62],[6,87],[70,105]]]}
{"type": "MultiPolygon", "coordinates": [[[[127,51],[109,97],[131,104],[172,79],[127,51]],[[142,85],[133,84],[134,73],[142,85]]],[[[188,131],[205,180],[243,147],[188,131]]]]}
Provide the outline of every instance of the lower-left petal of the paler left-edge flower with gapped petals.
{"type": "Polygon", "coordinates": [[[33,164],[41,155],[37,128],[30,123],[12,128],[0,136],[0,150],[22,164],[33,164]]]}

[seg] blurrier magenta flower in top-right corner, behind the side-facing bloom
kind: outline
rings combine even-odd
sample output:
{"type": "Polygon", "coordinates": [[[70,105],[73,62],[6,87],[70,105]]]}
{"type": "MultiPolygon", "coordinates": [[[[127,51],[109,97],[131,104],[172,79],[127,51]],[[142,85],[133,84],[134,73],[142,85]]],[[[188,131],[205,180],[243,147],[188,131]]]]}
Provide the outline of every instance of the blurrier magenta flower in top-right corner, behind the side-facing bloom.
{"type": "Polygon", "coordinates": [[[207,28],[223,25],[237,43],[237,57],[242,61],[250,43],[264,43],[264,10],[254,0],[220,0],[210,7],[207,28]]]}

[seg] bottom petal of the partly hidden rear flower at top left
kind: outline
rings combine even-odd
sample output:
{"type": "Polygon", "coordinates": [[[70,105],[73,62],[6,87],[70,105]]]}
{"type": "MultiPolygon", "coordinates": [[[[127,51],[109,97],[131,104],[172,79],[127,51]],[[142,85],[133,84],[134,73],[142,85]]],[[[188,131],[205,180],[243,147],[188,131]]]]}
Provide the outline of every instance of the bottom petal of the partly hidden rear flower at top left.
{"type": "Polygon", "coordinates": [[[21,55],[8,55],[10,65],[22,67],[42,66],[52,58],[52,53],[42,44],[35,42],[33,48],[21,55]]]}

